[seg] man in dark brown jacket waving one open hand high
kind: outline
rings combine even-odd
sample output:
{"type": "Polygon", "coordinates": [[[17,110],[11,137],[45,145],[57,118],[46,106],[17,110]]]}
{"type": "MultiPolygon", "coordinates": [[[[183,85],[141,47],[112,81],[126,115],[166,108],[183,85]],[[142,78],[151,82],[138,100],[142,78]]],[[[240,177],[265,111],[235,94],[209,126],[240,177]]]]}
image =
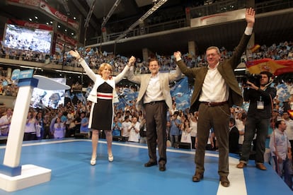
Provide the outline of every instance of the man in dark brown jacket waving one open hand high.
{"type": "Polygon", "coordinates": [[[209,129],[213,128],[219,146],[219,180],[223,187],[229,187],[229,118],[232,105],[242,105],[243,98],[234,69],[239,65],[241,55],[246,49],[255,22],[253,8],[246,9],[246,30],[233,56],[221,61],[218,47],[206,51],[207,67],[189,69],[181,59],[180,52],[174,52],[176,63],[188,77],[195,78],[195,90],[190,104],[199,111],[197,123],[197,149],[195,153],[196,170],[193,182],[200,182],[205,172],[205,146],[209,129]]]}

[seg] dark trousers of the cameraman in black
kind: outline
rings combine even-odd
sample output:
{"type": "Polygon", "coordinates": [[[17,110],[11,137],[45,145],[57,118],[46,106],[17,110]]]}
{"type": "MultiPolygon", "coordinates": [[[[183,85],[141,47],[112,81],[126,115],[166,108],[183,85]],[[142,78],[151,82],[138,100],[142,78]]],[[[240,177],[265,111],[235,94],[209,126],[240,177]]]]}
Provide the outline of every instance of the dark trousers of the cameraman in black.
{"type": "Polygon", "coordinates": [[[255,119],[253,117],[247,117],[244,130],[244,141],[241,148],[241,162],[248,163],[249,154],[251,152],[251,142],[253,141],[254,134],[256,134],[255,164],[264,162],[263,155],[265,153],[265,139],[268,136],[269,124],[270,119],[255,119]]]}

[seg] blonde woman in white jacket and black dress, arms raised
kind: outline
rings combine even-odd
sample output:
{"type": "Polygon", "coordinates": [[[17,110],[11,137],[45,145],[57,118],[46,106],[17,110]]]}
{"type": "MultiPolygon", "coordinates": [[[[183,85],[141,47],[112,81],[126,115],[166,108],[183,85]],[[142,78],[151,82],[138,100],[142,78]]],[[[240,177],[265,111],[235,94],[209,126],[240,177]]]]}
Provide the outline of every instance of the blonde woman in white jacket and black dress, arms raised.
{"type": "Polygon", "coordinates": [[[84,68],[87,75],[93,81],[93,88],[88,95],[88,100],[92,102],[91,113],[88,120],[88,128],[92,129],[93,134],[91,136],[92,141],[92,155],[91,165],[96,165],[96,156],[98,148],[98,134],[100,130],[105,132],[107,146],[108,146],[108,160],[112,162],[114,160],[112,153],[112,126],[114,118],[114,102],[118,102],[117,94],[115,90],[115,84],[122,80],[131,65],[134,64],[135,58],[131,57],[125,69],[117,76],[111,76],[113,68],[110,64],[100,64],[98,74],[94,73],[90,69],[86,61],[81,58],[81,55],[77,51],[69,52],[72,57],[76,58],[79,64],[84,68]]]}

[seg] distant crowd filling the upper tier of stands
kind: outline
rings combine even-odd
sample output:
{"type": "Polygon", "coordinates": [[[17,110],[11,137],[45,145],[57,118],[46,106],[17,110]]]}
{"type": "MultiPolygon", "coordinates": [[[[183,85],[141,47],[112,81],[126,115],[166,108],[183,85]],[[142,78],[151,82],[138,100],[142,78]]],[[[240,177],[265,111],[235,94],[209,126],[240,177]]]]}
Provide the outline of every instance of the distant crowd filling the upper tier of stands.
{"type": "MultiPolygon", "coordinates": [[[[219,48],[221,52],[221,60],[229,59],[233,52],[227,51],[224,47],[219,48]]],[[[113,54],[108,54],[107,52],[99,52],[98,48],[87,49],[84,51],[84,59],[86,63],[91,67],[91,69],[98,69],[100,64],[108,63],[113,66],[113,72],[119,73],[124,69],[125,64],[127,63],[127,57],[120,55],[114,56],[113,54]]],[[[19,49],[9,49],[7,47],[1,46],[0,57],[7,59],[15,60],[25,60],[25,61],[37,61],[40,63],[54,63],[62,66],[75,66],[79,67],[79,63],[71,57],[70,54],[54,54],[51,57],[45,56],[44,54],[25,51],[19,49]]],[[[171,71],[175,70],[176,62],[173,59],[173,56],[161,56],[156,54],[156,58],[160,63],[160,71],[171,71]]],[[[273,44],[270,47],[262,45],[258,47],[257,50],[251,52],[251,54],[242,55],[241,61],[252,61],[256,59],[293,59],[293,42],[280,42],[279,45],[273,44]]],[[[183,54],[183,61],[185,64],[190,67],[201,67],[207,66],[205,61],[205,54],[200,54],[193,56],[190,54],[183,54]]],[[[135,64],[134,73],[149,73],[147,61],[142,61],[137,59],[135,64]]],[[[13,85],[10,78],[5,76],[6,73],[1,71],[0,79],[0,95],[9,95],[16,97],[18,88],[16,85],[13,85]]]]}

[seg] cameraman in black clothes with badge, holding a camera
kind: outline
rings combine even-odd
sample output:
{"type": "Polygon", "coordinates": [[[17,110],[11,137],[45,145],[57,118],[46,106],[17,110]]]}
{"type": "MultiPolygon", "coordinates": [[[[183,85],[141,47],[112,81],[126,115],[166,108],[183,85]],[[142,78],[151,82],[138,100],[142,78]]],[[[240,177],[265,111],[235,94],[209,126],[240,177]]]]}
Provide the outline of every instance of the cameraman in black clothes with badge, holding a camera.
{"type": "Polygon", "coordinates": [[[251,152],[251,142],[256,134],[255,141],[255,166],[260,170],[267,170],[263,165],[265,153],[265,139],[268,136],[270,118],[272,117],[272,100],[275,98],[277,90],[270,87],[270,77],[268,71],[260,72],[259,85],[255,82],[246,81],[243,85],[244,101],[249,102],[247,119],[244,131],[244,141],[242,145],[242,155],[238,168],[246,167],[251,152]]]}

